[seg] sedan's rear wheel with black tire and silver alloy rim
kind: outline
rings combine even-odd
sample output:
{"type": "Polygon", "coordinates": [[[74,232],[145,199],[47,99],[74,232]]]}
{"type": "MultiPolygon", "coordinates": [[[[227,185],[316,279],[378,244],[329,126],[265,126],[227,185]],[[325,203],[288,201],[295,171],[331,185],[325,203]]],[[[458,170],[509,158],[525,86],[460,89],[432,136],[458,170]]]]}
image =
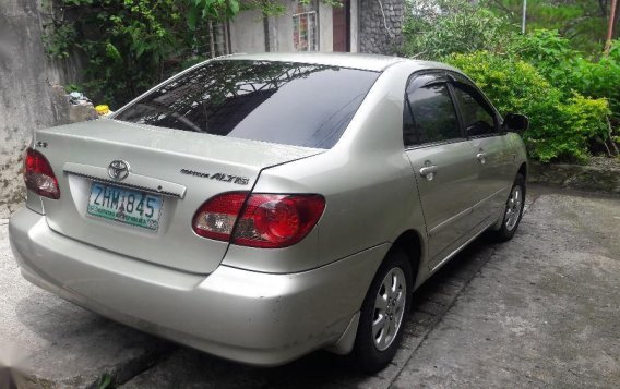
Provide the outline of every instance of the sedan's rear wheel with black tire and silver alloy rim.
{"type": "Polygon", "coordinates": [[[403,338],[403,324],[412,305],[412,290],[409,258],[402,252],[388,254],[361,306],[351,354],[356,368],[366,374],[374,374],[394,358],[403,338]],[[393,288],[386,289],[386,285],[393,288]],[[385,303],[381,304],[380,299],[385,303]],[[379,321],[380,317],[384,321],[379,321]],[[375,320],[384,325],[375,326],[373,331],[375,320]]]}

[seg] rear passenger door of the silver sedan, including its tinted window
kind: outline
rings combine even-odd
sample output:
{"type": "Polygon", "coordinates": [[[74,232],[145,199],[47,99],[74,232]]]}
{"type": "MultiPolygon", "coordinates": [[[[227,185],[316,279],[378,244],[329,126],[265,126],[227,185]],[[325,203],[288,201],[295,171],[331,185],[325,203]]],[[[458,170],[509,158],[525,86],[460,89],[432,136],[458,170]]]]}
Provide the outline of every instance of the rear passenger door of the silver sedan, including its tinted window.
{"type": "Polygon", "coordinates": [[[404,104],[404,143],[422,205],[431,267],[477,224],[478,162],[462,133],[444,72],[415,74],[404,104]]]}

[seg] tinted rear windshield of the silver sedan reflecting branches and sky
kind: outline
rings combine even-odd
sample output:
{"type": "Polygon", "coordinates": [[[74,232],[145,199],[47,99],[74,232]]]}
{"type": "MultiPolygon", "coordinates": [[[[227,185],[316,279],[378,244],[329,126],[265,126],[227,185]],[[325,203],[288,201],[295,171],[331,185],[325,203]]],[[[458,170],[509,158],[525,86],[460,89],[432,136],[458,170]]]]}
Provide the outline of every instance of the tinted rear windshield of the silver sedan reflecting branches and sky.
{"type": "Polygon", "coordinates": [[[151,92],[115,119],[331,148],[378,76],[318,64],[211,61],[151,92]]]}

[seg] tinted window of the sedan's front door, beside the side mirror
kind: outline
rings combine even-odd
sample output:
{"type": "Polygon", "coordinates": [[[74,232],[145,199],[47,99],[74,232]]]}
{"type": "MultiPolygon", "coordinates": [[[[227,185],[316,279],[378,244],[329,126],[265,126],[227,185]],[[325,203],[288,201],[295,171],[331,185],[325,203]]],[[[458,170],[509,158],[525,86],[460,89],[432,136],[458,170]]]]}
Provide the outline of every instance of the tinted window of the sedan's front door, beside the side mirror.
{"type": "Polygon", "coordinates": [[[482,96],[467,85],[454,85],[454,96],[458,101],[467,136],[488,135],[496,132],[493,110],[482,96]]]}

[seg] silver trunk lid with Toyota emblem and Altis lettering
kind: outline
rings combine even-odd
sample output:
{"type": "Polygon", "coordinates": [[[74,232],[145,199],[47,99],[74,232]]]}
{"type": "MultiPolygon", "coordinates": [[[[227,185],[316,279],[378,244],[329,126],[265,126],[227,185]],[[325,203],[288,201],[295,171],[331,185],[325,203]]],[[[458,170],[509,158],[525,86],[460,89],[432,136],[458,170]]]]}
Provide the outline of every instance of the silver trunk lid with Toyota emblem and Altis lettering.
{"type": "MultiPolygon", "coordinates": [[[[36,141],[46,146],[37,149],[51,163],[60,186],[60,199],[41,197],[51,229],[110,252],[196,273],[212,272],[228,246],[192,231],[192,217],[202,203],[219,193],[250,191],[264,168],[324,151],[105,119],[38,131],[36,141]],[[112,161],[128,165],[127,178],[109,174],[112,161]],[[116,194],[117,202],[106,203],[102,187],[108,187],[110,198],[116,194]],[[144,212],[133,211],[135,218],[127,212],[132,194],[132,211],[143,200],[144,212]],[[151,197],[162,200],[156,221],[146,218],[151,197]],[[124,222],[118,220],[119,202],[124,222]],[[94,208],[88,207],[94,204],[105,209],[92,215],[88,209],[94,208]],[[117,214],[100,214],[108,211],[117,214]],[[127,223],[134,219],[143,222],[127,223]]],[[[154,199],[150,208],[158,204],[154,199]]]]}

